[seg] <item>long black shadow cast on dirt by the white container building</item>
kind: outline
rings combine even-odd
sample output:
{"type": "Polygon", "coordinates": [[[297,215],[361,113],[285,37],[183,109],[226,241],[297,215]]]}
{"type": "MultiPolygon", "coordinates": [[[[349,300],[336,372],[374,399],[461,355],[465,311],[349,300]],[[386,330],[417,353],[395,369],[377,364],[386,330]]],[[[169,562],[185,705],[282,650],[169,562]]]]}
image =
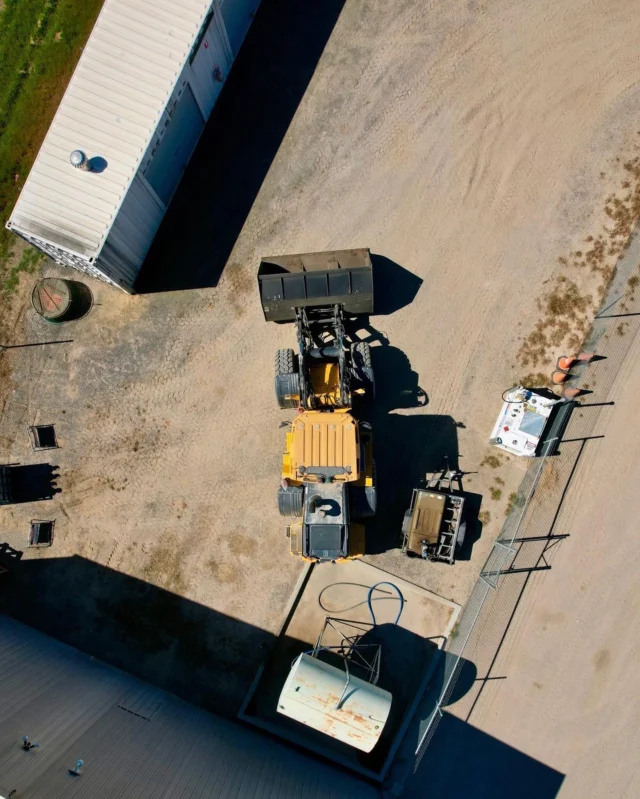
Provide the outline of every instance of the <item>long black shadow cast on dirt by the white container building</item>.
{"type": "Polygon", "coordinates": [[[135,285],[215,286],[344,0],[262,0],[135,285]]]}

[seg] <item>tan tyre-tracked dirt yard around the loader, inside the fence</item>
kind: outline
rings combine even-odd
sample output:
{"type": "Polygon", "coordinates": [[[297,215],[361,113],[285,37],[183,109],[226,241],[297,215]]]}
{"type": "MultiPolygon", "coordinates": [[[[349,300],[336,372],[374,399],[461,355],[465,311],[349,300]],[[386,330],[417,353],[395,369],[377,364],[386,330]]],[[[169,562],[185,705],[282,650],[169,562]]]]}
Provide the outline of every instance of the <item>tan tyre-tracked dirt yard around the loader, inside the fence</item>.
{"type": "MultiPolygon", "coordinates": [[[[255,272],[273,253],[380,256],[383,313],[368,335],[381,513],[367,559],[464,603],[523,473],[486,443],[500,395],[525,375],[547,380],[579,344],[640,211],[639,33],[629,2],[347,0],[218,285],[128,297],[87,281],[90,315],[54,331],[26,309],[24,282],[23,340],[73,342],[0,356],[3,458],[57,465],[61,493],[3,509],[3,539],[23,550],[28,521],[55,518],[54,546],[23,563],[104,567],[56,572],[47,605],[66,609],[68,639],[98,636],[107,602],[114,632],[96,651],[189,694],[168,676],[182,616],[161,603],[167,635],[144,649],[138,599],[123,605],[104,575],[184,597],[185,618],[211,609],[222,625],[198,616],[191,683],[231,650],[223,666],[237,674],[209,701],[233,709],[261,659],[251,632],[262,647],[280,629],[302,565],[275,504],[289,417],[272,362],[294,333],[262,319],[255,272]],[[48,422],[61,448],[34,453],[26,425],[48,422]],[[397,549],[411,487],[445,454],[469,473],[482,521],[454,567],[397,549]]],[[[190,167],[205,186],[215,154],[201,144],[190,167]]],[[[176,247],[211,235],[191,210],[176,247]]],[[[42,585],[53,568],[32,573],[42,585]]]]}

